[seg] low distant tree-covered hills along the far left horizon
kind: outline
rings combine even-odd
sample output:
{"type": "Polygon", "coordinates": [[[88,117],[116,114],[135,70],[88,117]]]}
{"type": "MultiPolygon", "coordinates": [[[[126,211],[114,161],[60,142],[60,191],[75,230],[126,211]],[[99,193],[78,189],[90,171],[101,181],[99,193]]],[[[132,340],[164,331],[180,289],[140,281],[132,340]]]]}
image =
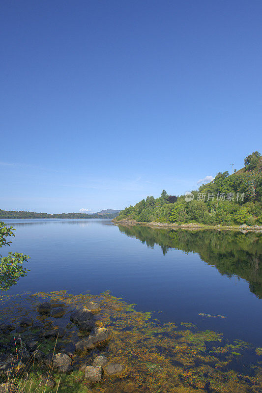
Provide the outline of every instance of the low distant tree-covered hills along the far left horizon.
{"type": "Polygon", "coordinates": [[[0,220],[4,219],[34,219],[34,218],[61,218],[61,219],[91,219],[91,218],[115,218],[120,210],[101,210],[100,212],[87,214],[87,213],[37,213],[25,211],[6,211],[0,209],[0,220]]]}

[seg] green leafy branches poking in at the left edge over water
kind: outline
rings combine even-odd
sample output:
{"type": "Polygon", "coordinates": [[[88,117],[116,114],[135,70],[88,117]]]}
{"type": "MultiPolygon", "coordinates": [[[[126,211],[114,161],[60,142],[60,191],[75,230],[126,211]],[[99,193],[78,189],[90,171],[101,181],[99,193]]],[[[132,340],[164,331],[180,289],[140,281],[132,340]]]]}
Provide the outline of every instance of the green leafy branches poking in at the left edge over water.
{"type": "MultiPolygon", "coordinates": [[[[14,236],[12,226],[6,227],[0,222],[0,247],[9,246],[11,241],[7,241],[8,236],[14,236]]],[[[20,277],[25,277],[28,270],[23,268],[23,262],[27,262],[30,257],[22,253],[8,253],[2,257],[0,254],[0,300],[2,293],[8,291],[11,285],[17,283],[20,277]]]]}

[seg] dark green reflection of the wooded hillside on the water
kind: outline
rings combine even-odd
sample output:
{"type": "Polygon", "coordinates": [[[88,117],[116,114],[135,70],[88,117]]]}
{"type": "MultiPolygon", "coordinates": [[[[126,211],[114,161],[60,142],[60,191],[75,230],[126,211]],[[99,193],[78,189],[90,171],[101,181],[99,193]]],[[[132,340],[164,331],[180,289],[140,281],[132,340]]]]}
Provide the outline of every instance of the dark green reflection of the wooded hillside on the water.
{"type": "Polygon", "coordinates": [[[220,274],[236,275],[249,282],[250,291],[262,298],[262,234],[236,231],[159,229],[148,226],[123,226],[119,230],[153,247],[159,244],[165,255],[175,248],[198,253],[220,274]]]}

